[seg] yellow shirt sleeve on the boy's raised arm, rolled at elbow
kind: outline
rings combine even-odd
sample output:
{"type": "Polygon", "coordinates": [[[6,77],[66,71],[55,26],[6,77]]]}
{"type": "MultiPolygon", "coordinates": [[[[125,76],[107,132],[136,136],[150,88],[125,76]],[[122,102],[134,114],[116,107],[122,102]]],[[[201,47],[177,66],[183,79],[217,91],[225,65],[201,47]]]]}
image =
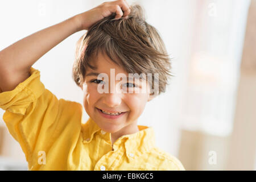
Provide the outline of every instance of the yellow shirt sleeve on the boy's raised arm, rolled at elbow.
{"type": "Polygon", "coordinates": [[[22,147],[28,165],[36,163],[40,148],[49,151],[65,128],[67,135],[78,132],[81,122],[79,103],[58,100],[40,81],[38,70],[31,68],[30,73],[15,89],[0,93],[0,108],[5,110],[3,121],[22,147]]]}

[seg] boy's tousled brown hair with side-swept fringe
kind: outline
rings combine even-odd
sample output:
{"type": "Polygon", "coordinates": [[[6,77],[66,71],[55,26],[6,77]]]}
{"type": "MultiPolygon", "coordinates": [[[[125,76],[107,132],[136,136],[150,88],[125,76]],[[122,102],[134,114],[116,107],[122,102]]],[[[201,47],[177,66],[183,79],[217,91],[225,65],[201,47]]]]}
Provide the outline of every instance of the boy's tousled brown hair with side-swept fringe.
{"type": "Polygon", "coordinates": [[[93,24],[77,42],[73,80],[81,87],[86,68],[97,69],[90,64],[91,58],[102,51],[127,73],[152,73],[149,83],[153,90],[154,74],[158,73],[158,94],[165,92],[168,77],[172,76],[171,60],[156,28],[145,21],[142,7],[131,6],[127,19],[114,16],[93,24]]]}

